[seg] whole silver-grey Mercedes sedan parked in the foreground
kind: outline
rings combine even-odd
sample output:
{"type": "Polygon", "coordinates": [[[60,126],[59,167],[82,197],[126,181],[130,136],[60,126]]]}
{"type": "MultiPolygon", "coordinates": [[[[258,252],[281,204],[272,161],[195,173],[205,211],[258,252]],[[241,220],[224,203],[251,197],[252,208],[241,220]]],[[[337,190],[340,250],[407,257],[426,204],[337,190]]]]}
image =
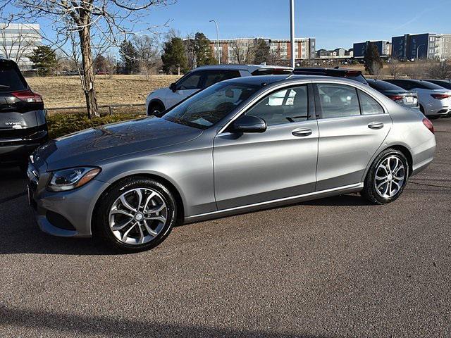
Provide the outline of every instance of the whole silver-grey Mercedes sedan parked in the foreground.
{"type": "Polygon", "coordinates": [[[44,144],[28,168],[29,197],[49,234],[140,251],[177,223],[350,192],[395,201],[434,152],[431,122],[366,84],[241,77],[161,118],[44,144]]]}

